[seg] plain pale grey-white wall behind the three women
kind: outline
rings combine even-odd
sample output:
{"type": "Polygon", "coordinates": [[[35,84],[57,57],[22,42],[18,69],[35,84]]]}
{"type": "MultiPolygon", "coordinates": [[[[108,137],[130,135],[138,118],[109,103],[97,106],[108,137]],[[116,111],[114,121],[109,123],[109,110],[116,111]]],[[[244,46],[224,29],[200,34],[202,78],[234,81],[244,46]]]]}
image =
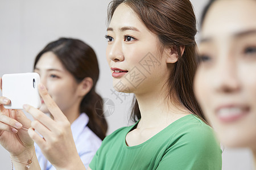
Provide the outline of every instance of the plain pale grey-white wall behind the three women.
{"type": "MultiPolygon", "coordinates": [[[[106,10],[110,0],[0,0],[0,76],[32,71],[36,54],[59,37],[73,37],[88,43],[96,51],[100,64],[97,90],[115,104],[107,118],[108,134],[127,126],[131,95],[118,99],[112,94],[112,77],[105,59],[106,10]]],[[[193,0],[197,17],[207,1],[193,0]]],[[[1,92],[0,92],[1,94],[1,92]]],[[[28,117],[30,115],[27,114],[28,117]]],[[[31,118],[31,117],[30,117],[31,118]]],[[[0,169],[11,169],[8,152],[0,146],[0,169]]],[[[247,150],[225,148],[224,170],[253,169],[247,150]]]]}

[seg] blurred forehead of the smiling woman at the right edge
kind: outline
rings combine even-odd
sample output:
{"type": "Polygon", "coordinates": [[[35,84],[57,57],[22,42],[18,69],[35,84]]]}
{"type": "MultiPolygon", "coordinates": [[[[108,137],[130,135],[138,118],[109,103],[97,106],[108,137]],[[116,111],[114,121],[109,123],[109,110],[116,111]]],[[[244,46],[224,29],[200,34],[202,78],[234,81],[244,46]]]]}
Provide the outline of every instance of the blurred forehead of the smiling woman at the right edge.
{"type": "Polygon", "coordinates": [[[232,36],[256,29],[255,0],[218,0],[209,8],[201,37],[232,36]]]}

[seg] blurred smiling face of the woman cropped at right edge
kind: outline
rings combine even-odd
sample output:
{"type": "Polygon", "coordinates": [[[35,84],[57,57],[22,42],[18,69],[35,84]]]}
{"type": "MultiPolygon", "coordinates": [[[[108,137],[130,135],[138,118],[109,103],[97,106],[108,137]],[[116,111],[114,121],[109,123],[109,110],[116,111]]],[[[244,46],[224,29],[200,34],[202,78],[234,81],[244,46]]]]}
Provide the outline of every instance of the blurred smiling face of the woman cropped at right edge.
{"type": "Polygon", "coordinates": [[[201,30],[195,94],[221,142],[256,143],[256,1],[216,1],[201,30]]]}

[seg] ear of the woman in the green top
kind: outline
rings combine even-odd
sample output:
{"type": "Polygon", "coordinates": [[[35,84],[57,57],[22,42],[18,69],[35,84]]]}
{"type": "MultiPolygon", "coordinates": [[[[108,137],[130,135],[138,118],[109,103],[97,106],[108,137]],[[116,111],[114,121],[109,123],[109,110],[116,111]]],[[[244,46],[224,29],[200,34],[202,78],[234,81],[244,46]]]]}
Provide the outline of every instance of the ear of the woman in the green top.
{"type": "MultiPolygon", "coordinates": [[[[181,45],[180,46],[181,56],[183,55],[184,50],[185,50],[185,46],[181,45]]],[[[177,60],[179,58],[179,53],[177,51],[177,46],[176,45],[171,46],[171,48],[167,48],[166,53],[167,53],[166,63],[175,63],[175,62],[177,62],[177,60]]]]}

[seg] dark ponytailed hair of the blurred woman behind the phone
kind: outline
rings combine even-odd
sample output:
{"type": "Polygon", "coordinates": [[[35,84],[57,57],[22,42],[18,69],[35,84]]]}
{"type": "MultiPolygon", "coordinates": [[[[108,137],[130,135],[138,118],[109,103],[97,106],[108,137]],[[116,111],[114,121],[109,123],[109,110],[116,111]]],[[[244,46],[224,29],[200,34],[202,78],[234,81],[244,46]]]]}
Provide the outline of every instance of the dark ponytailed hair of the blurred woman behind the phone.
{"type": "Polygon", "coordinates": [[[101,96],[95,91],[100,70],[94,50],[81,40],[60,38],[59,40],[49,42],[36,56],[34,69],[40,57],[46,52],[54,53],[78,83],[86,77],[92,78],[92,89],[82,99],[80,112],[85,112],[88,115],[88,127],[103,140],[106,137],[108,124],[102,111],[102,105],[97,105],[97,107],[101,107],[97,108],[97,112],[95,108],[96,103],[103,102],[101,96]]]}

